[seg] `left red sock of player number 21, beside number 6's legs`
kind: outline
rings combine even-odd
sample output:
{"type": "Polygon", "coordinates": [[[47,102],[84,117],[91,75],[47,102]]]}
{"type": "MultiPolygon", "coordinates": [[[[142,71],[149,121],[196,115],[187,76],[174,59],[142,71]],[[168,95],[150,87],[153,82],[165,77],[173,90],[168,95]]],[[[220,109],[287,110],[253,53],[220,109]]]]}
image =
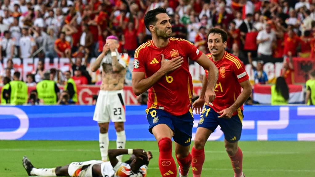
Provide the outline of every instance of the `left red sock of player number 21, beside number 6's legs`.
{"type": "Polygon", "coordinates": [[[204,163],[204,149],[196,150],[192,147],[192,176],[200,177],[204,163]]]}

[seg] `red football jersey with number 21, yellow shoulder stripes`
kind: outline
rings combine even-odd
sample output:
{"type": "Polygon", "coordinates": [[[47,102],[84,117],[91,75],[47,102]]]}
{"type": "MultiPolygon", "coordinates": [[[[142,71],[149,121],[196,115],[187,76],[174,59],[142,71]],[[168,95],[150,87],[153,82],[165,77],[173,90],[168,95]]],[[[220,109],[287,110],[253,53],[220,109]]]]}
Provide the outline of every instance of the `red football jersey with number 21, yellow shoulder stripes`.
{"type": "MultiPolygon", "coordinates": [[[[215,86],[215,100],[213,105],[209,105],[215,111],[222,111],[234,104],[239,94],[241,94],[241,85],[239,83],[249,79],[245,67],[238,57],[225,52],[223,58],[219,61],[213,61],[211,54],[207,54],[208,58],[215,64],[219,70],[219,77],[215,86]]],[[[208,71],[206,76],[208,78],[208,71]]],[[[233,113],[237,115],[243,110],[243,105],[233,113]]]]}

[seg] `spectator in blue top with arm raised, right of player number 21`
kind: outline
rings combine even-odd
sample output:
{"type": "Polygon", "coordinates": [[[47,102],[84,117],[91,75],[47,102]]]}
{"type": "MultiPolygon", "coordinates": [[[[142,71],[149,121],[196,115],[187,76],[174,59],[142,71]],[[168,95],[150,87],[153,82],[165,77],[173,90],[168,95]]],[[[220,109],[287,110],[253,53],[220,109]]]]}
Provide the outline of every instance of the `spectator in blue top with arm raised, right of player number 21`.
{"type": "Polygon", "coordinates": [[[252,69],[254,70],[254,81],[255,83],[259,84],[268,84],[268,77],[266,72],[263,70],[264,66],[261,61],[257,62],[257,67],[253,65],[251,53],[247,53],[248,56],[248,62],[252,66],[252,69]]]}

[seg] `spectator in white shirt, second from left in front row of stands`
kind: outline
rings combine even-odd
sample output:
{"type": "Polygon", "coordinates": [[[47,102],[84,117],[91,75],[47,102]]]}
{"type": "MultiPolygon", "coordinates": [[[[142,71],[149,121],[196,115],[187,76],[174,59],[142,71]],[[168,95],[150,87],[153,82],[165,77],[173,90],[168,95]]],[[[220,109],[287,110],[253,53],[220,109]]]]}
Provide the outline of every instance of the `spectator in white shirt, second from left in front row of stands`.
{"type": "Polygon", "coordinates": [[[29,58],[35,52],[36,43],[33,37],[29,36],[27,28],[22,28],[22,37],[20,38],[20,58],[29,58]]]}

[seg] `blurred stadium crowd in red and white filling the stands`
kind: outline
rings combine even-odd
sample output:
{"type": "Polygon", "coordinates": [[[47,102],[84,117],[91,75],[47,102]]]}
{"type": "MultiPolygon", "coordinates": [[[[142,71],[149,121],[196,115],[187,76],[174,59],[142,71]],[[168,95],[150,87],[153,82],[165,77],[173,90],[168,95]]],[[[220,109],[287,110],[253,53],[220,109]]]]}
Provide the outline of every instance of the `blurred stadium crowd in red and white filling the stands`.
{"type": "Polygon", "coordinates": [[[8,59],[2,82],[13,80],[12,58],[23,63],[36,57],[28,86],[42,81],[46,72],[60,85],[69,78],[76,85],[94,84],[87,65],[102,52],[106,37],[117,36],[118,51],[133,57],[152,38],[144,14],[157,7],[167,9],[173,37],[194,43],[203,53],[209,53],[209,28],[224,29],[226,50],[252,65],[255,83],[268,83],[264,62],[284,61],[281,76],[292,84],[292,56],[315,58],[315,0],[4,0],[0,7],[0,60],[8,59]],[[45,70],[44,58],[52,62],[55,57],[69,58],[71,70],[45,70]]]}

